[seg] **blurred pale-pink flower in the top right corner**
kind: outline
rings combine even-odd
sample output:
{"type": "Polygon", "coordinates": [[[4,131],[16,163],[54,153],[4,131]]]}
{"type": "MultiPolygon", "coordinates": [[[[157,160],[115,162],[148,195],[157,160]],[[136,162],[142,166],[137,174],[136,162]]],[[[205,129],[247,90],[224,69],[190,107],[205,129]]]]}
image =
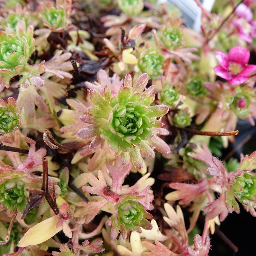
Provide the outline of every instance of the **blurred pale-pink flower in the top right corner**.
{"type": "Polygon", "coordinates": [[[239,36],[244,41],[251,43],[252,37],[256,37],[256,22],[253,21],[253,12],[243,3],[235,10],[238,19],[232,23],[238,29],[239,36]]]}

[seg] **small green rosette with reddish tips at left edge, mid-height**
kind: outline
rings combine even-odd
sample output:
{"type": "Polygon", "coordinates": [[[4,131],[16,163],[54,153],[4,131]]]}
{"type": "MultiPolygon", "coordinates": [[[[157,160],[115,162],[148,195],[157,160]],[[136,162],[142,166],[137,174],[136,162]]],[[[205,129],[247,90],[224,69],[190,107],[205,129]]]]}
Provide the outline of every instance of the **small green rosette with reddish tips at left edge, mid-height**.
{"type": "Polygon", "coordinates": [[[0,134],[17,130],[20,126],[20,111],[16,101],[9,97],[7,103],[0,99],[0,134]]]}

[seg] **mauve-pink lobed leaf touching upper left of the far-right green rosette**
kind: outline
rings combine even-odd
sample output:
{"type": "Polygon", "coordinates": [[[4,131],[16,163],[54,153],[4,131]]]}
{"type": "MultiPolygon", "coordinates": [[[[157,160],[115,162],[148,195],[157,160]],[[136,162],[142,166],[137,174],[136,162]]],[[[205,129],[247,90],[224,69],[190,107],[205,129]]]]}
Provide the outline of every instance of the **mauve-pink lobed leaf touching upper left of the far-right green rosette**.
{"type": "Polygon", "coordinates": [[[217,177],[216,184],[223,188],[228,183],[227,171],[218,158],[213,157],[212,160],[215,166],[209,167],[207,171],[210,175],[217,177]]]}

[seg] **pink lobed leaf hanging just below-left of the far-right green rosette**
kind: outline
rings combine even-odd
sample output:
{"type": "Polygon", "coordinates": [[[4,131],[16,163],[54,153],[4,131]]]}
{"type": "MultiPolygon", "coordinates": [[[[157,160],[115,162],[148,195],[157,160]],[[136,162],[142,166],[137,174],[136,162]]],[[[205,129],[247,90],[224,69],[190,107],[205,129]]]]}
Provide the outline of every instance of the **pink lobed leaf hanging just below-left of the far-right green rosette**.
{"type": "Polygon", "coordinates": [[[216,216],[219,215],[219,220],[223,221],[224,219],[226,219],[226,217],[229,214],[229,211],[224,202],[223,194],[221,194],[220,197],[218,199],[216,199],[215,201],[209,202],[203,208],[203,210],[205,212],[208,212],[205,217],[206,220],[214,219],[216,216]]]}

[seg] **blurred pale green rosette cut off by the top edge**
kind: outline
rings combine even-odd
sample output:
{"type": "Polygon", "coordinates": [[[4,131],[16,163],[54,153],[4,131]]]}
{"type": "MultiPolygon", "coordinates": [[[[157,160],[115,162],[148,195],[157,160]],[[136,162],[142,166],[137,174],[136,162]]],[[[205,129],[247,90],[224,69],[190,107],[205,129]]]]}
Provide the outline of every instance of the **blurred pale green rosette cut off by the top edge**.
{"type": "Polygon", "coordinates": [[[118,0],[117,3],[121,11],[130,17],[138,15],[144,7],[142,0],[118,0]]]}

